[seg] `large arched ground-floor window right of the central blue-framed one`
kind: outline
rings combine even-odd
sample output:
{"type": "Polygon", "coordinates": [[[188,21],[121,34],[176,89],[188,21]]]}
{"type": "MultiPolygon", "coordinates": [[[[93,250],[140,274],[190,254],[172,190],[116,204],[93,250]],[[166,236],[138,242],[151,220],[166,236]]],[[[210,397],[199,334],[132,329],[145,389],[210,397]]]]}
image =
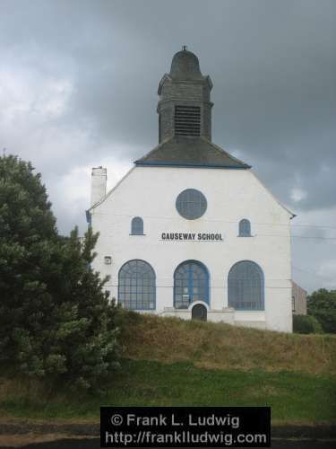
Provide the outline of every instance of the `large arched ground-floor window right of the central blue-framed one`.
{"type": "Polygon", "coordinates": [[[254,262],[237,262],[228,273],[228,306],[236,310],[264,310],[263,271],[254,262]]]}

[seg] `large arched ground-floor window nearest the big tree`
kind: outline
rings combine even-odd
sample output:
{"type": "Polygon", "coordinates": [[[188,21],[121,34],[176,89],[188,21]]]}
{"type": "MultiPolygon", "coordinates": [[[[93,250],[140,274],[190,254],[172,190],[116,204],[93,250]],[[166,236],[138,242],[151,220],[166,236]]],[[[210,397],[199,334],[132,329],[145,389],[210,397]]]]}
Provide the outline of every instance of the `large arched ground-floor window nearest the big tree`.
{"type": "Polygon", "coordinates": [[[144,260],[129,260],[119,270],[118,302],[130,310],[155,309],[155,272],[144,260]]]}

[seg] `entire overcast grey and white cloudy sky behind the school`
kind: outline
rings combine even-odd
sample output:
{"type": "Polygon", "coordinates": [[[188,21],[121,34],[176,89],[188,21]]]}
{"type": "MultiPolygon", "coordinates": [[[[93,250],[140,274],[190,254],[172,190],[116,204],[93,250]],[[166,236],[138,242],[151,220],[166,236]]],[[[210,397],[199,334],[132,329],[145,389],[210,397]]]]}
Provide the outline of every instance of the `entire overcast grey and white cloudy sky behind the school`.
{"type": "Polygon", "coordinates": [[[157,145],[182,45],[214,84],[212,140],[297,214],[293,278],[336,288],[334,0],[0,0],[0,148],[42,173],[59,230],[84,232],[90,167],[112,187],[157,145]]]}

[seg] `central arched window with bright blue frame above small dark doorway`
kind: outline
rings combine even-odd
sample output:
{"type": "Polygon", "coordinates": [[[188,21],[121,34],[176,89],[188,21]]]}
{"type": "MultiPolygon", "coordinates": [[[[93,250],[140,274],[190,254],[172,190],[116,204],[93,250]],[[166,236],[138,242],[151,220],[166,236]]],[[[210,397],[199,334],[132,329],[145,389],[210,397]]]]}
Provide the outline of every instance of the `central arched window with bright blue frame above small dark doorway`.
{"type": "Polygon", "coordinates": [[[201,262],[186,260],[174,273],[174,307],[187,309],[194,301],[209,304],[209,273],[201,262]]]}

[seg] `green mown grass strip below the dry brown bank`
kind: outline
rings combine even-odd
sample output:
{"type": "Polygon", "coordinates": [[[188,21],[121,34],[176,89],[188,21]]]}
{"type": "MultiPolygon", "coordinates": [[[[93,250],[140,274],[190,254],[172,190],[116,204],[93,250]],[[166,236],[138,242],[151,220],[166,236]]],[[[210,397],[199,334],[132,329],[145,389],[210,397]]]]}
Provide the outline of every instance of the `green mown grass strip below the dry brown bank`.
{"type": "Polygon", "coordinates": [[[98,419],[100,405],[269,405],[273,422],[336,422],[334,377],[125,360],[112,382],[113,388],[101,398],[58,392],[50,401],[13,394],[12,400],[2,402],[0,407],[17,417],[98,419]]]}

